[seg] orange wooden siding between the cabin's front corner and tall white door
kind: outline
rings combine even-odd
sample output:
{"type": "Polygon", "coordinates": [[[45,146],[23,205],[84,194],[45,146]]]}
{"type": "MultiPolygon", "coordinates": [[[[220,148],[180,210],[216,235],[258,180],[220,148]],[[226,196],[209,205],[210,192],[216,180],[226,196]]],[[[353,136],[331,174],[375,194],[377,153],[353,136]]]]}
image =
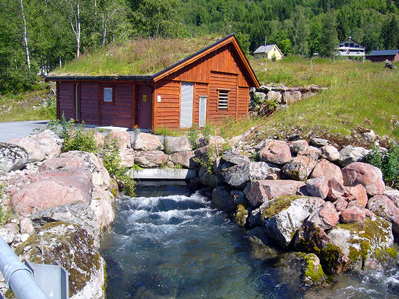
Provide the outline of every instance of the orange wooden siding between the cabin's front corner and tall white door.
{"type": "Polygon", "coordinates": [[[154,94],[155,128],[180,127],[180,82],[162,80],[155,84],[154,94]],[[158,103],[158,96],[161,102],[158,103]]]}

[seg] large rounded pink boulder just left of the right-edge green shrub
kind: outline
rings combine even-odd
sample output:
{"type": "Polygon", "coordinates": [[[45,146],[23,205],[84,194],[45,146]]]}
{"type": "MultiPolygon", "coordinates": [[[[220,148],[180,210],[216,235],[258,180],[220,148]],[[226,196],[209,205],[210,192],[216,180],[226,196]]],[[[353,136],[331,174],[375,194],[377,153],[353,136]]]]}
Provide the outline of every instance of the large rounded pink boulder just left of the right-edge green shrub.
{"type": "Polygon", "coordinates": [[[383,194],[385,183],[382,180],[382,172],[377,167],[355,162],[342,169],[343,185],[356,186],[363,185],[369,196],[383,194]]]}

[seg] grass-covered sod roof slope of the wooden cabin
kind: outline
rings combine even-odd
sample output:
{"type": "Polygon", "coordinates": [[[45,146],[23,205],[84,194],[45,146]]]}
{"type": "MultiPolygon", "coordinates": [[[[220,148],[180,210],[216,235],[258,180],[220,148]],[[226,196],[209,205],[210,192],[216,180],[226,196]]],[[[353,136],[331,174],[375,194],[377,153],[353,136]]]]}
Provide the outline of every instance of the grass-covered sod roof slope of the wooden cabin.
{"type": "Polygon", "coordinates": [[[103,49],[67,62],[50,75],[153,75],[220,39],[209,36],[139,38],[124,44],[108,44],[103,49]]]}

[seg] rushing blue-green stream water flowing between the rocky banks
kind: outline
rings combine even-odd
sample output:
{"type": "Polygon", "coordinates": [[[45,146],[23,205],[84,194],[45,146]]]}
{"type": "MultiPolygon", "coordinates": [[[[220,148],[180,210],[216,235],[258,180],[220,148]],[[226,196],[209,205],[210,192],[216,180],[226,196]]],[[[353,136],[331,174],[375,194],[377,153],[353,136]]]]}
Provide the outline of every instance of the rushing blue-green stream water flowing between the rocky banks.
{"type": "Polygon", "coordinates": [[[108,298],[399,298],[397,268],[305,290],[287,253],[255,246],[244,232],[185,187],[140,187],[117,200],[101,241],[108,298]]]}

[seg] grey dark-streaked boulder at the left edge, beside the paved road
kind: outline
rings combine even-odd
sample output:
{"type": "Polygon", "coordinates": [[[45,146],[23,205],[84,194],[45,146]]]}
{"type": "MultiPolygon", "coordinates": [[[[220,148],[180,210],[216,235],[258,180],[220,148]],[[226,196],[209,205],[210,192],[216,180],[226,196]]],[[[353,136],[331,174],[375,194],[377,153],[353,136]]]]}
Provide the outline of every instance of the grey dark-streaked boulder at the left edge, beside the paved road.
{"type": "Polygon", "coordinates": [[[29,161],[28,152],[22,146],[0,142],[0,176],[22,169],[29,161]]]}

